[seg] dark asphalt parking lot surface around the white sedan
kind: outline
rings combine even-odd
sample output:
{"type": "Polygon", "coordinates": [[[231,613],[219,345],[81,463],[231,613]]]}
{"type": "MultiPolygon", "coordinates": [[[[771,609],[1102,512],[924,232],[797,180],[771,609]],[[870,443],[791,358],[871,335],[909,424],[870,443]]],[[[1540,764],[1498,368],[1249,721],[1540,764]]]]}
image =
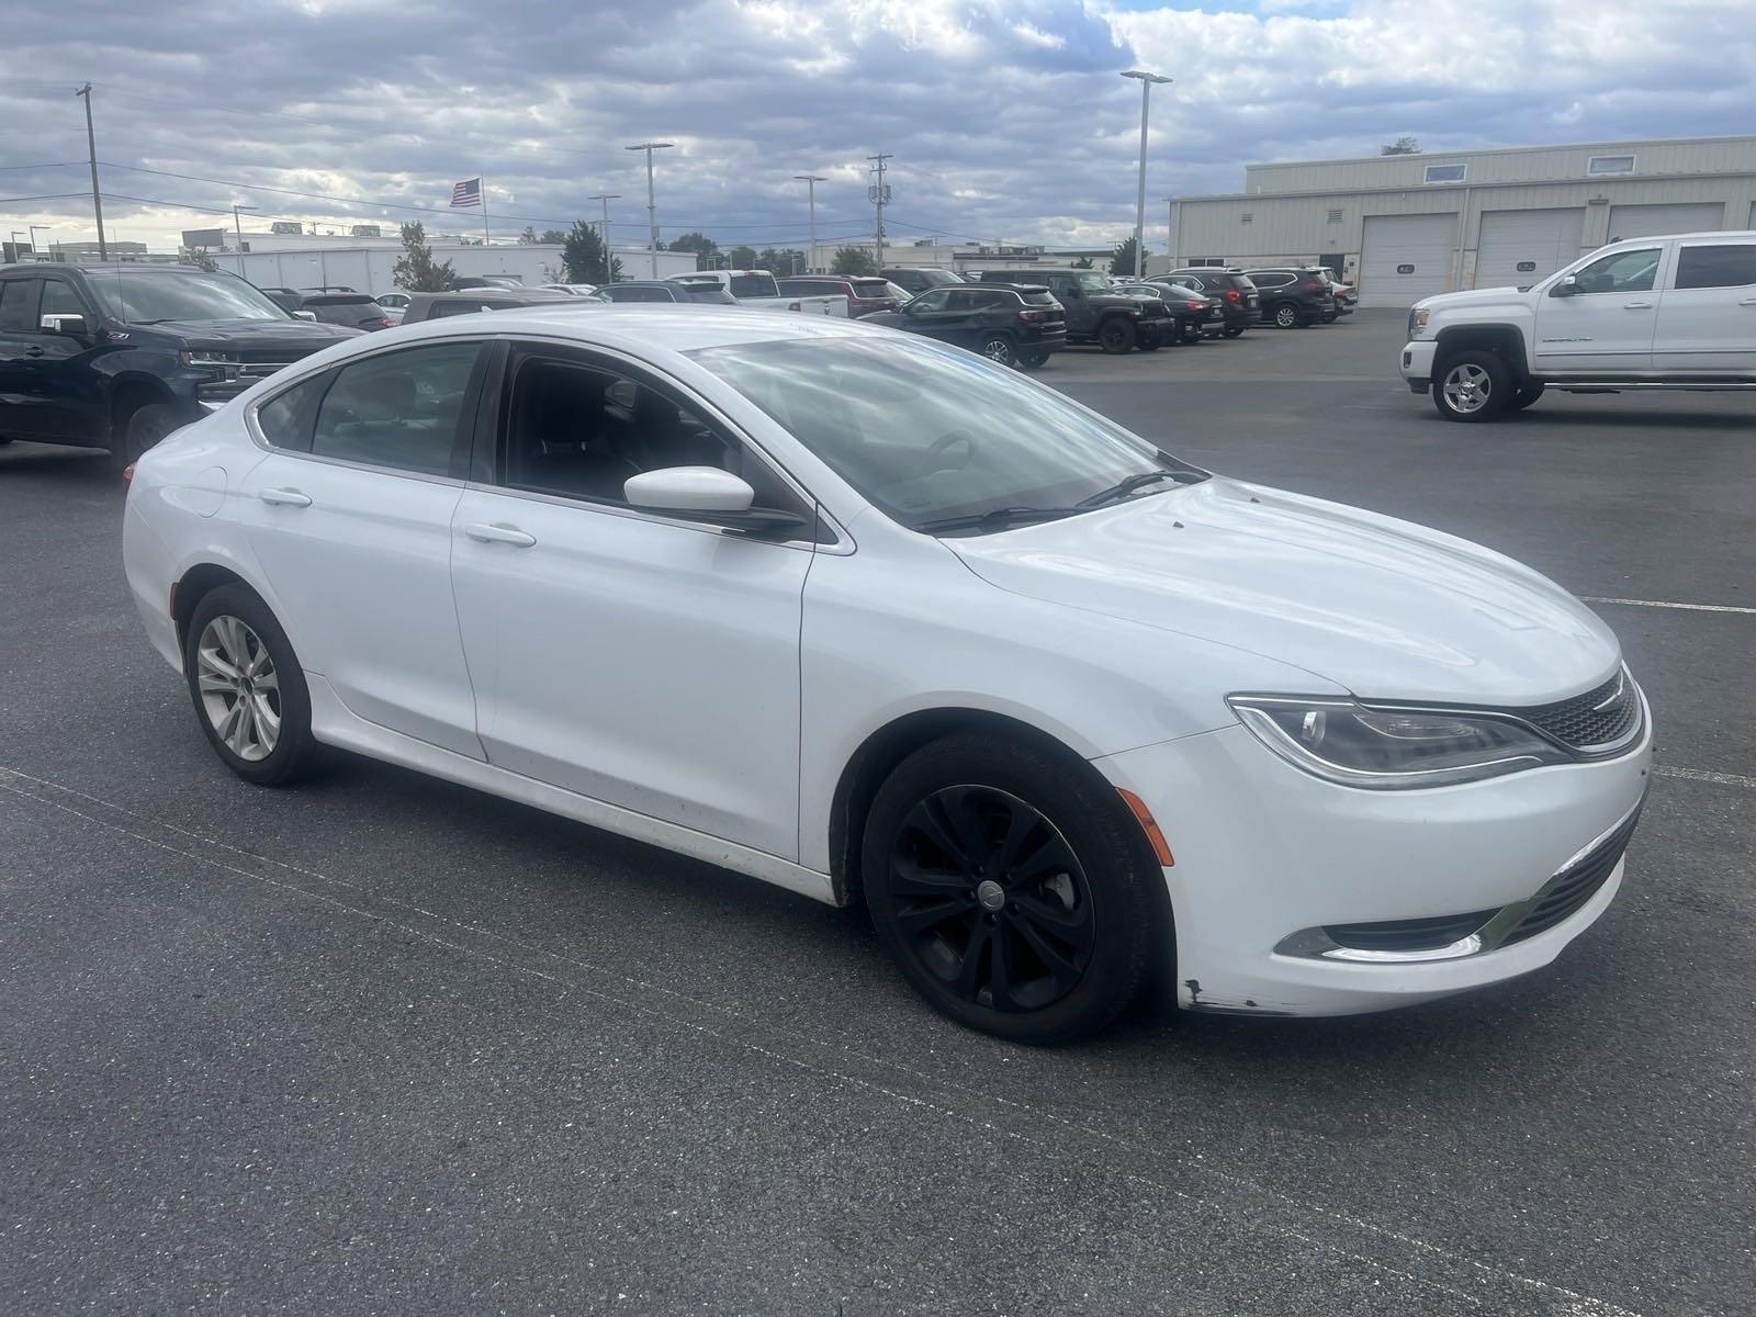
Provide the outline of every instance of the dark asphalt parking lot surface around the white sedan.
{"type": "Polygon", "coordinates": [[[139,632],[104,458],[0,450],[18,1306],[1737,1310],[1751,402],[1447,425],[1400,342],[1361,313],[1041,379],[1640,601],[1594,604],[1659,727],[1623,894],[1487,994],[1062,1052],[959,1031],[857,920],[702,864],[362,760],[234,780],[139,632]]]}

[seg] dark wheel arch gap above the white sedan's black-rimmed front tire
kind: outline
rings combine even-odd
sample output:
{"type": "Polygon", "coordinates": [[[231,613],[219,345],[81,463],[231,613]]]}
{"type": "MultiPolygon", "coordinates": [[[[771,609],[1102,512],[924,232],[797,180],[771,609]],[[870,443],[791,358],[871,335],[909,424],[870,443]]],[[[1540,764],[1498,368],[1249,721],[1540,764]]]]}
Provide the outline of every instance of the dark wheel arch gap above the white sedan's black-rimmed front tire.
{"type": "MultiPolygon", "coordinates": [[[[899,715],[860,741],[836,780],[829,808],[829,874],[836,904],[857,904],[860,899],[860,841],[878,787],[911,753],[955,732],[985,732],[996,739],[1038,746],[1066,760],[1071,773],[1089,773],[1105,790],[1115,792],[1108,778],[1064,739],[1022,718],[952,704],[899,715]]],[[[1117,806],[1124,808],[1120,795],[1117,806]]],[[[1134,832],[1150,853],[1150,841],[1138,822],[1134,832]]]]}

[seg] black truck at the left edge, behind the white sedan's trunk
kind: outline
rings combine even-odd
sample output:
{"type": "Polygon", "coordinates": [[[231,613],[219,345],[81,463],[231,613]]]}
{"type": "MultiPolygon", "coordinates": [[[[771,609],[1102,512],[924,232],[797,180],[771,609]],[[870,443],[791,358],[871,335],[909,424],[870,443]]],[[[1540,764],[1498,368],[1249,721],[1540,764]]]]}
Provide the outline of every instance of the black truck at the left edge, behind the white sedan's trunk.
{"type": "Polygon", "coordinates": [[[193,265],[0,269],[0,439],[133,462],[263,376],[360,330],[293,320],[193,265]]]}

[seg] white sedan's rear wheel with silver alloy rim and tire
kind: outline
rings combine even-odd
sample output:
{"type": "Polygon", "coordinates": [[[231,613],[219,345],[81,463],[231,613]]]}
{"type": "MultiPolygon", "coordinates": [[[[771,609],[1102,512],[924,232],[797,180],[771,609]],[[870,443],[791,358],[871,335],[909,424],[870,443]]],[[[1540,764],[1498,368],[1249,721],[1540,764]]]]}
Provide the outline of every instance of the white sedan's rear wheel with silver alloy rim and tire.
{"type": "Polygon", "coordinates": [[[316,767],[306,673],[255,594],[221,585],[202,595],[184,634],[183,673],[209,745],[237,776],[281,787],[316,767]]]}

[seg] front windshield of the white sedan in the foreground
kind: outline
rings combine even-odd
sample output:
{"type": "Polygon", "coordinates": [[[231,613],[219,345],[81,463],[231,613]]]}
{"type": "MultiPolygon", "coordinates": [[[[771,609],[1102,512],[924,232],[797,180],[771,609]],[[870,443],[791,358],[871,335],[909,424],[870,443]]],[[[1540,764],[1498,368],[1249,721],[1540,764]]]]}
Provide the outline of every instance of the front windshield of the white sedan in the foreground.
{"type": "MultiPolygon", "coordinates": [[[[1001,530],[1010,515],[1080,511],[1131,476],[1194,471],[1015,371],[929,341],[783,339],[688,355],[917,530],[982,516],[994,520],[955,530],[1001,530]]],[[[1140,497],[1175,488],[1147,483],[1140,497]]]]}

